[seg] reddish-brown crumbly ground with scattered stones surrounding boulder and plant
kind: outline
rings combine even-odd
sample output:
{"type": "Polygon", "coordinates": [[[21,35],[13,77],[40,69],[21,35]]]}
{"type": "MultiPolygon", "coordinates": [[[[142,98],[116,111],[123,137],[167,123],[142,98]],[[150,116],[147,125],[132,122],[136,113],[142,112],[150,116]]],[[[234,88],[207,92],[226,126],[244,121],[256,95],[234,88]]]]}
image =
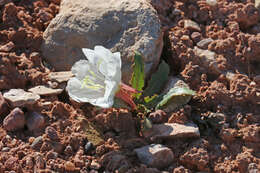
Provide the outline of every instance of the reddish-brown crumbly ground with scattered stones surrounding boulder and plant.
{"type": "Polygon", "coordinates": [[[0,0],[0,173],[258,172],[259,2],[215,2],[151,0],[161,59],[197,95],[151,113],[152,132],[141,134],[135,112],[71,101],[71,73],[43,61],[60,0],[0,0]]]}

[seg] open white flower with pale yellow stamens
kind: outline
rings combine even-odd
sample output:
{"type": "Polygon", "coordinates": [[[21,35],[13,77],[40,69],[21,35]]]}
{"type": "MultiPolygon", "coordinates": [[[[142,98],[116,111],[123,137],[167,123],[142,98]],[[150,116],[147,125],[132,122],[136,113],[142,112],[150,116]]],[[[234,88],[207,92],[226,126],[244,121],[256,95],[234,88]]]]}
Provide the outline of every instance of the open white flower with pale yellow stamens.
{"type": "Polygon", "coordinates": [[[80,60],[72,66],[75,77],[66,87],[69,96],[77,102],[111,107],[121,82],[120,52],[112,53],[102,46],[82,51],[88,60],[80,60]]]}

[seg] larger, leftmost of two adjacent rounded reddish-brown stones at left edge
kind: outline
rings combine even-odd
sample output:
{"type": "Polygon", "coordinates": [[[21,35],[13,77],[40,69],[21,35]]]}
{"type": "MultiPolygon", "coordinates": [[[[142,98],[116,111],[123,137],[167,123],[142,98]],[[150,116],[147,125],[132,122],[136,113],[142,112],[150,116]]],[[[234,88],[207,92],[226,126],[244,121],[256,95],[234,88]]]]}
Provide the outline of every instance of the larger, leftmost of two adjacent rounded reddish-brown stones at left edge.
{"type": "Polygon", "coordinates": [[[24,125],[25,117],[23,111],[20,108],[13,109],[3,121],[3,127],[7,131],[21,129],[24,127],[24,125]]]}

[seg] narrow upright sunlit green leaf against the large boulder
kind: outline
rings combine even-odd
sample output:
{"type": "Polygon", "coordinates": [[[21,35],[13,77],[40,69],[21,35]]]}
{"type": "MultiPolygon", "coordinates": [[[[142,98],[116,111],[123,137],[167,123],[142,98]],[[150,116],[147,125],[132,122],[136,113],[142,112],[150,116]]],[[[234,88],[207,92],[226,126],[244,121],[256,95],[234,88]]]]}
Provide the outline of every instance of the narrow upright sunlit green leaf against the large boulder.
{"type": "MultiPolygon", "coordinates": [[[[144,63],[142,55],[139,52],[135,52],[134,65],[133,65],[133,75],[130,81],[132,87],[138,91],[142,91],[144,87],[144,63]]],[[[141,93],[136,94],[139,98],[141,93]]]]}

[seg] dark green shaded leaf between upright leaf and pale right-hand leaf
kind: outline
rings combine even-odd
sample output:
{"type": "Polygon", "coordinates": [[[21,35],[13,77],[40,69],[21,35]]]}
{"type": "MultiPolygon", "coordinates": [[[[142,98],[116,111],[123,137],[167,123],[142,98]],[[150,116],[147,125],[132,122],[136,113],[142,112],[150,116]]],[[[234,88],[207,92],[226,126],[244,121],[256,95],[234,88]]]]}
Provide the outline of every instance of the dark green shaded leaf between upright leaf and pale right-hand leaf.
{"type": "Polygon", "coordinates": [[[152,96],[159,94],[164,85],[168,81],[170,68],[165,61],[162,61],[158,70],[152,75],[151,80],[148,82],[148,86],[144,90],[144,96],[152,96]]]}

